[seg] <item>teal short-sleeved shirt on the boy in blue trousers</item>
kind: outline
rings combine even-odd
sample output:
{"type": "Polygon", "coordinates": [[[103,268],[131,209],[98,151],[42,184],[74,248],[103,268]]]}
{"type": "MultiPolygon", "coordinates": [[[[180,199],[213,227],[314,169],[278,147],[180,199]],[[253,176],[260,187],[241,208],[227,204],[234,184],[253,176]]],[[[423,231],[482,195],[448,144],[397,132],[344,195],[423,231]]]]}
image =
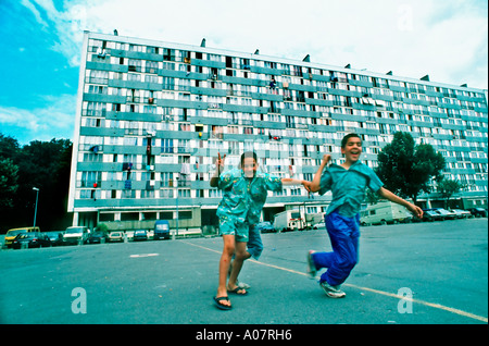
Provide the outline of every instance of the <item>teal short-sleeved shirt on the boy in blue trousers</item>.
{"type": "Polygon", "coordinates": [[[353,218],[360,212],[366,187],[378,191],[383,186],[384,183],[368,165],[356,161],[349,170],[331,164],[321,176],[318,193],[324,195],[329,189],[333,193],[326,214],[338,209],[341,215],[353,218]]]}

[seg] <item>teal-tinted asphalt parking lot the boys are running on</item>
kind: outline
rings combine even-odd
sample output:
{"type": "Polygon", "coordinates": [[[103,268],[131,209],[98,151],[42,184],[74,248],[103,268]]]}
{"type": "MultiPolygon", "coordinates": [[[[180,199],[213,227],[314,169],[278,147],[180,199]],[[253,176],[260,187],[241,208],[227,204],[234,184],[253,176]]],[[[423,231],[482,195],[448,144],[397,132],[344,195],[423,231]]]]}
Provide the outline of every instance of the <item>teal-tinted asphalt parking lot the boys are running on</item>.
{"type": "Polygon", "coordinates": [[[324,228],[263,234],[252,287],[221,311],[222,239],[188,238],[0,250],[0,322],[163,324],[487,324],[487,219],[368,226],[360,262],[326,297],[305,275],[324,228]]]}

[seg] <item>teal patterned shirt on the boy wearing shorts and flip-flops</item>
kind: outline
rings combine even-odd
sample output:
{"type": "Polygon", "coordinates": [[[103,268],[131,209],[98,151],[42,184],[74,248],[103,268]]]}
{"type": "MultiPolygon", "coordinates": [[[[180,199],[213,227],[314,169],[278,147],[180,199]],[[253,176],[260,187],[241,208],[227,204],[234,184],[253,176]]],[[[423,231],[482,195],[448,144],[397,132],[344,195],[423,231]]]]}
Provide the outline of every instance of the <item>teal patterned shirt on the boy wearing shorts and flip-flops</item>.
{"type": "Polygon", "coordinates": [[[217,217],[227,217],[237,223],[260,222],[268,190],[281,190],[281,180],[268,173],[256,172],[250,180],[242,170],[233,169],[220,175],[217,187],[223,190],[223,199],[217,207],[217,217]]]}

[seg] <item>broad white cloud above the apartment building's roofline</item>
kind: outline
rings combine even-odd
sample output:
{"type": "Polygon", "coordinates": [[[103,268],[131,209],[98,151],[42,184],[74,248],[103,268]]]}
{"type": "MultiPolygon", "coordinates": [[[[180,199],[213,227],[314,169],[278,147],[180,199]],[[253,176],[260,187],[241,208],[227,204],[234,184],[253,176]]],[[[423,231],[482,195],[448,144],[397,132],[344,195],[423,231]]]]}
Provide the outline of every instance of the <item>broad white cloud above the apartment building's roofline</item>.
{"type": "MultiPolygon", "coordinates": [[[[84,29],[116,28],[122,36],[190,45],[205,37],[208,47],[296,60],[310,53],[313,62],[487,88],[487,59],[474,58],[481,45],[487,50],[487,4],[477,0],[73,0],[59,11],[52,0],[32,1],[58,30],[53,49],[72,65],[84,29]]],[[[23,3],[42,21],[32,2],[23,3]]]]}

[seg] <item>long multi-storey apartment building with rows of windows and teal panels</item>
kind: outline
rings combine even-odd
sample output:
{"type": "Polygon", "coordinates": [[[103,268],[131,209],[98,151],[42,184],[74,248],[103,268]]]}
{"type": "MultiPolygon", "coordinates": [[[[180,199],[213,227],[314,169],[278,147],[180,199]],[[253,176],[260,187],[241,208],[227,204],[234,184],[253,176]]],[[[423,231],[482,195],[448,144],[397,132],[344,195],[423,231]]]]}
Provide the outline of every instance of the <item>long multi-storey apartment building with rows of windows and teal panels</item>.
{"type": "MultiPolygon", "coordinates": [[[[204,39],[188,46],[86,32],[76,112],[74,224],[216,225],[222,195],[209,183],[218,152],[237,166],[254,150],[262,170],[312,180],[324,153],[340,162],[350,132],[362,136],[371,168],[396,132],[432,145],[447,177],[466,184],[464,207],[487,208],[487,90],[466,85],[212,49],[204,39]]],[[[328,200],[287,187],[269,193],[263,219],[290,208],[321,212],[328,200]]]]}

